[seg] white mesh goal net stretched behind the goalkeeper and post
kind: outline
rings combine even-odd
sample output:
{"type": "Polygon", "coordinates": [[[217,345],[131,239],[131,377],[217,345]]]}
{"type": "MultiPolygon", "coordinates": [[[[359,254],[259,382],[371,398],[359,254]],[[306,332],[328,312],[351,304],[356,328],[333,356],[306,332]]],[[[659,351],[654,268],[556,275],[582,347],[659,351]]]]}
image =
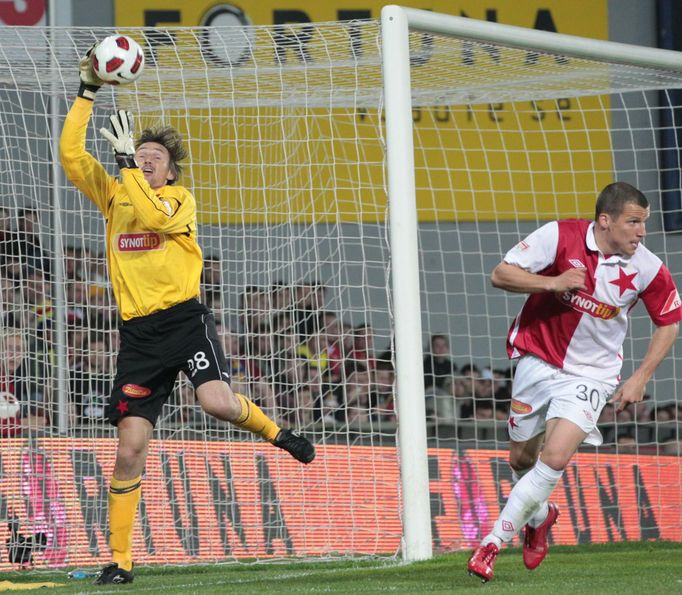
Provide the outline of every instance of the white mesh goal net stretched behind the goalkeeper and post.
{"type": "MultiPolygon", "coordinates": [[[[489,273],[540,223],[591,218],[599,190],[624,180],[651,201],[647,245],[682,281],[680,237],[662,223],[680,208],[665,138],[682,75],[411,32],[421,309],[396,312],[379,23],[119,32],[145,47],[146,70],[98,92],[87,149],[116,174],[97,133],[113,109],[134,112],[138,131],[183,134],[202,299],[233,387],[318,445],[303,468],[205,416],[181,376],[150,449],[136,561],[398,556],[410,516],[398,421],[426,427],[433,547],[476,543],[510,488],[504,342],[522,303],[489,273]],[[396,399],[398,317],[421,323],[419,358],[400,361],[419,376],[424,365],[427,382],[396,399]],[[400,420],[414,398],[425,418],[400,420]]],[[[0,403],[0,519],[46,536],[38,566],[108,561],[116,309],[103,218],[56,160],[79,56],[110,33],[0,29],[0,388],[21,402],[18,415],[0,403]]],[[[625,374],[650,334],[640,307],[625,374]]],[[[665,471],[678,460],[678,368],[674,353],[644,407],[605,418],[604,447],[579,454],[559,495],[577,512],[555,541],[679,538],[681,478],[665,471]]],[[[0,525],[0,543],[11,537],[0,525]]],[[[5,552],[0,567],[14,567],[5,552]]]]}

